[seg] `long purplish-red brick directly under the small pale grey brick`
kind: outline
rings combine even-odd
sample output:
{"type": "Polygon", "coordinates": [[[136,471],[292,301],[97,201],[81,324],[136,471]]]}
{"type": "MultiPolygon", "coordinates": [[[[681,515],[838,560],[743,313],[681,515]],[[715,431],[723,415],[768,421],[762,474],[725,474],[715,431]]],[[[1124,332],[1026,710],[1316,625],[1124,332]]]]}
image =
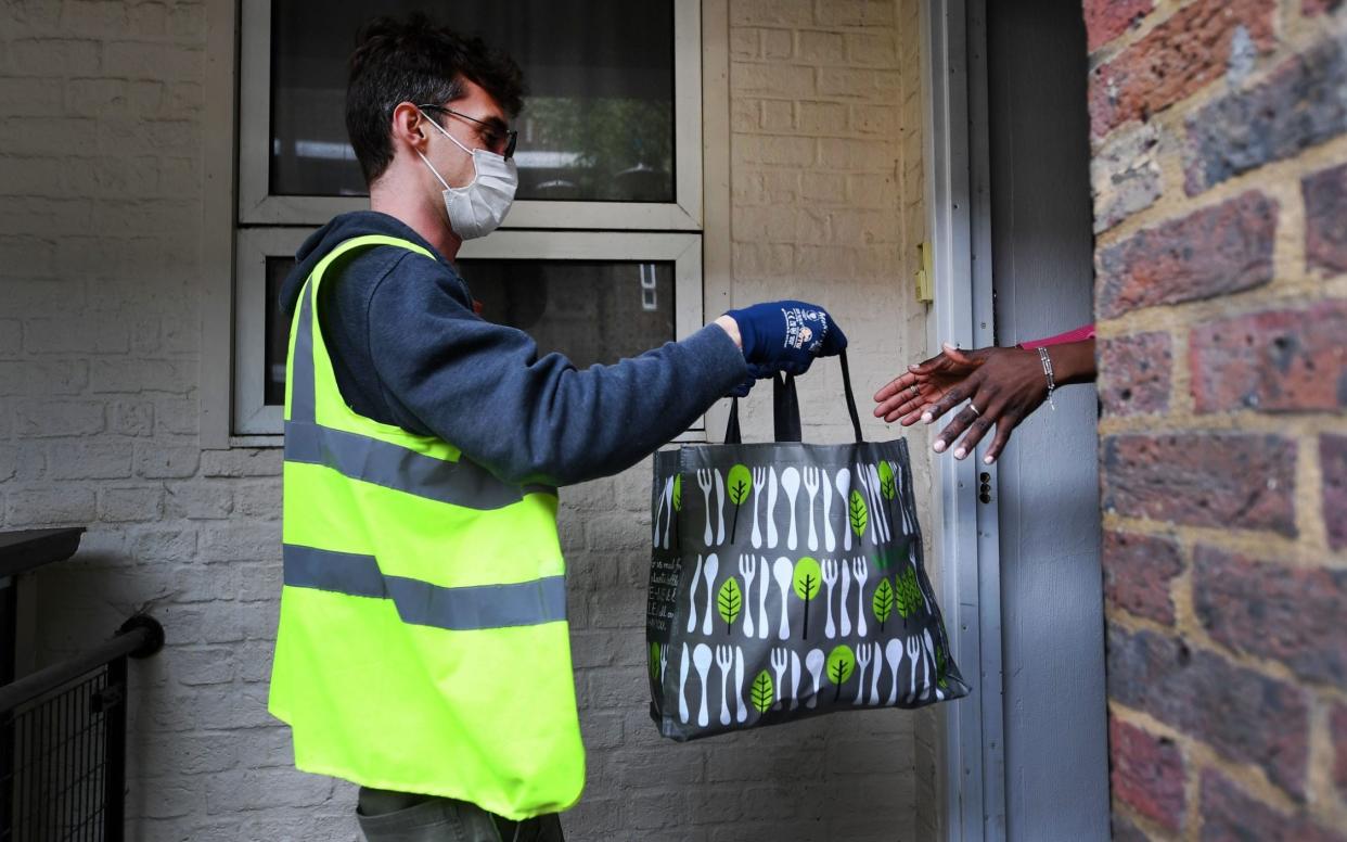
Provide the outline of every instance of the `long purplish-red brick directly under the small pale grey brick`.
{"type": "Polygon", "coordinates": [[[1096,253],[1103,318],[1251,290],[1273,278],[1277,202],[1258,191],[1146,228],[1096,253]]]}

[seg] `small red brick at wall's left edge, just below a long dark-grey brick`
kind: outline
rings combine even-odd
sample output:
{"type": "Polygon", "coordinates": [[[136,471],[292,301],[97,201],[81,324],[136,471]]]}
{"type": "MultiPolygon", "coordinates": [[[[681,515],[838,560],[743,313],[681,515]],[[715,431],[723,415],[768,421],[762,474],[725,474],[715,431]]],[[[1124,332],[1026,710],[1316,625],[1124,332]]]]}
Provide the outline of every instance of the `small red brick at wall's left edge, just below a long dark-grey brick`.
{"type": "Polygon", "coordinates": [[[1165,830],[1183,829],[1184,761],[1171,740],[1109,719],[1113,796],[1165,830]]]}

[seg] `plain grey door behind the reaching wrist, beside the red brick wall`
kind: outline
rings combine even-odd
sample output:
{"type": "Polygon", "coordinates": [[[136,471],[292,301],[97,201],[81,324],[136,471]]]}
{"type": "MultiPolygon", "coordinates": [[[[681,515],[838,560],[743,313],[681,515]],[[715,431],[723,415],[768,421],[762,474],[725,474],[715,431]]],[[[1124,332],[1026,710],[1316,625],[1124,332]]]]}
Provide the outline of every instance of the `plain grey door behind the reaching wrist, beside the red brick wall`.
{"type": "MultiPolygon", "coordinates": [[[[1079,0],[987,3],[997,344],[1091,321],[1079,0]]],[[[1096,397],[1070,387],[1001,458],[1006,833],[1109,838],[1096,397]]]]}

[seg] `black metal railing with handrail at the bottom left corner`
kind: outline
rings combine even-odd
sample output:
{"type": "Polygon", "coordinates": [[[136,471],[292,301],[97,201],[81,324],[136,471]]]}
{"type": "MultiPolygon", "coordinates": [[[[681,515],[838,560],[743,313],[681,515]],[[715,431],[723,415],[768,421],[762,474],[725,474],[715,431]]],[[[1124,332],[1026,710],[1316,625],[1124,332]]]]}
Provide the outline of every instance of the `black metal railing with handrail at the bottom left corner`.
{"type": "Polygon", "coordinates": [[[106,643],[0,687],[0,842],[121,842],[127,659],[163,647],[137,614],[106,643]]]}

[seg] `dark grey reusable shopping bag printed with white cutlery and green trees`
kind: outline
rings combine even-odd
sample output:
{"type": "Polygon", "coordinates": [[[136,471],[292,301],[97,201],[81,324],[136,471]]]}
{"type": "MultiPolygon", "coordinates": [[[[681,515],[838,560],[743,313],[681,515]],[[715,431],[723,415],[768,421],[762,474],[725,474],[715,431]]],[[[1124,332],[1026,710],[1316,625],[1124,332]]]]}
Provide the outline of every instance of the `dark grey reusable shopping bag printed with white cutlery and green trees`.
{"type": "Polygon", "coordinates": [[[902,439],[800,443],[793,377],[773,381],[776,442],[655,458],[647,608],[651,715],[699,737],[962,698],[902,439]]]}

